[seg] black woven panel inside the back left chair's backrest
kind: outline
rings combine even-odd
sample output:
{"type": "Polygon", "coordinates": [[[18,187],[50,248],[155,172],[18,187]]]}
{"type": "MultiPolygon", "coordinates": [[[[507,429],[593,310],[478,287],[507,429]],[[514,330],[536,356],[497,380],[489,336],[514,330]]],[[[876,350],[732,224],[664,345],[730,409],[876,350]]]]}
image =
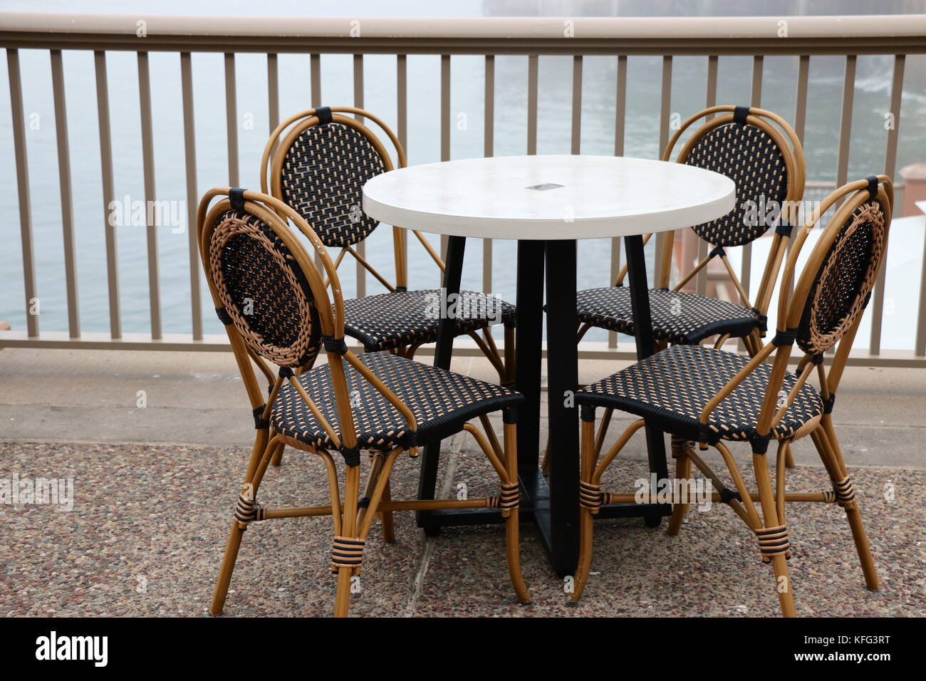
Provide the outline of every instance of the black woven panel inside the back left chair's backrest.
{"type": "Polygon", "coordinates": [[[340,123],[307,128],[283,158],[282,199],[329,248],[351,246],[379,225],[361,208],[363,185],[385,170],[366,137],[340,123]]]}

